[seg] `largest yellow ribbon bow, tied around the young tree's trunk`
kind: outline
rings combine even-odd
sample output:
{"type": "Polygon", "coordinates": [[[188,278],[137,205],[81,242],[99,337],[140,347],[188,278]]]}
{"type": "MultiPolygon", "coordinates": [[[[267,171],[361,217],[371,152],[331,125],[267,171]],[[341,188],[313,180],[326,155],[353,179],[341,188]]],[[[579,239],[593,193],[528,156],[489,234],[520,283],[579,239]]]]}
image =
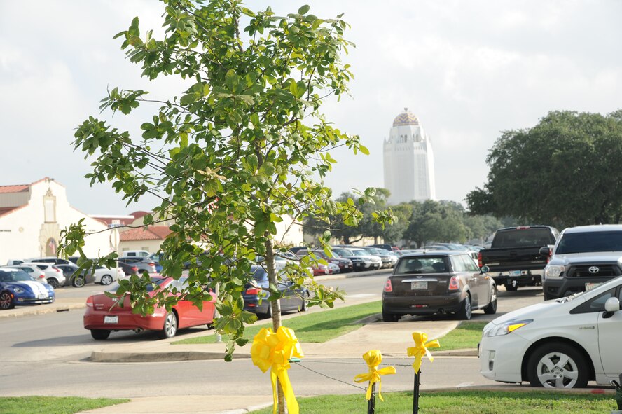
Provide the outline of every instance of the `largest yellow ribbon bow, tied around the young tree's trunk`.
{"type": "Polygon", "coordinates": [[[293,394],[287,370],[290,367],[289,359],[301,357],[304,357],[304,354],[292,329],[281,326],[277,329],[277,333],[274,333],[270,328],[263,328],[253,338],[253,346],[251,347],[253,364],[258,366],[263,373],[270,368],[270,380],[272,381],[275,402],[272,410],[274,414],[278,410],[277,379],[283,388],[289,413],[298,414],[299,412],[298,401],[293,394]]]}

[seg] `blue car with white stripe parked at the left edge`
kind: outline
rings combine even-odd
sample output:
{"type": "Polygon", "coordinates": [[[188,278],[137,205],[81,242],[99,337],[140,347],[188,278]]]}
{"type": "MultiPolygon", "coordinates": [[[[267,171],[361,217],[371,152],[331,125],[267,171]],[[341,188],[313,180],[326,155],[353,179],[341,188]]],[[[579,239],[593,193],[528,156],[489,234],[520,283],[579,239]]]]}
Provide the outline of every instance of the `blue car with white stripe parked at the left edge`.
{"type": "Polygon", "coordinates": [[[40,305],[52,303],[54,288],[47,283],[35,282],[27,272],[20,269],[0,269],[0,309],[15,305],[40,305]]]}

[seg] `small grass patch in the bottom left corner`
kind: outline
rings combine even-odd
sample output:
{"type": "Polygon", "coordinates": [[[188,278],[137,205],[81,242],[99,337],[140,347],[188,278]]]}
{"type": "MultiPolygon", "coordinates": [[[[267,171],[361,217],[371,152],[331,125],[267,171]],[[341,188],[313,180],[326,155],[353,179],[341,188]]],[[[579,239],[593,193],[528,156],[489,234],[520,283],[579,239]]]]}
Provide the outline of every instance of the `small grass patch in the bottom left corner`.
{"type": "Polygon", "coordinates": [[[74,414],[127,401],[130,400],[76,396],[4,396],[0,397],[0,414],[74,414]]]}

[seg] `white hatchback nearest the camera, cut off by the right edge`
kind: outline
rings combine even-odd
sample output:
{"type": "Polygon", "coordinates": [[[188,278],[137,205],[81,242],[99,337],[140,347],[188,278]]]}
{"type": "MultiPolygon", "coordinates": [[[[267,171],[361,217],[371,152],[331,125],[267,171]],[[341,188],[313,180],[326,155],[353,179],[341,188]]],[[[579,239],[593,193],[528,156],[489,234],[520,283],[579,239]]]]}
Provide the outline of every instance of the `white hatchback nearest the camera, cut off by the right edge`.
{"type": "Polygon", "coordinates": [[[509,312],[487,324],[480,372],[533,387],[609,385],[622,373],[622,277],[595,289],[509,312]]]}

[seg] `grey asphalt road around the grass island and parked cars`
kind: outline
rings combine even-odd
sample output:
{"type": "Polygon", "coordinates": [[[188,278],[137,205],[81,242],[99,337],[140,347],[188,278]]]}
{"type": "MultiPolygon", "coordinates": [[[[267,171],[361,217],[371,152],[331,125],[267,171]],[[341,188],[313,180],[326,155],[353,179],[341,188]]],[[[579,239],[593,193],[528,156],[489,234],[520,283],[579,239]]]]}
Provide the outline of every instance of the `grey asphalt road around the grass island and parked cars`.
{"type": "MultiPolygon", "coordinates": [[[[385,275],[326,281],[348,293],[348,303],[379,300],[385,275]]],[[[88,296],[102,287],[59,289],[64,294],[88,296]]],[[[499,314],[543,300],[541,288],[499,291],[499,314]]],[[[497,314],[497,316],[499,315],[497,314]]],[[[249,359],[224,361],[184,361],[134,364],[105,364],[86,361],[90,352],[102,343],[92,340],[82,326],[81,310],[0,319],[0,395],[59,396],[160,396],[209,394],[270,394],[270,382],[249,359]]],[[[492,319],[495,315],[474,312],[474,319],[492,319]]],[[[426,317],[419,319],[446,319],[426,317]]],[[[417,318],[415,318],[417,319],[417,318]]],[[[180,335],[197,333],[203,328],[181,331],[180,335]]],[[[106,343],[119,345],[136,341],[153,341],[153,333],[115,333],[106,343]]],[[[105,345],[104,345],[105,346],[105,345]]],[[[412,389],[412,359],[385,359],[396,364],[397,374],[383,380],[383,391],[412,389]],[[403,366],[401,366],[403,365],[403,366]]],[[[422,374],[422,389],[493,385],[478,373],[474,357],[438,357],[434,369],[422,374]]],[[[359,361],[303,360],[293,366],[289,375],[296,384],[297,395],[362,392],[353,386],[352,378],[366,371],[359,361]],[[317,371],[317,373],[312,371],[317,371]],[[330,378],[329,378],[330,377],[330,378]],[[347,384],[343,382],[347,382],[347,384]]]]}

